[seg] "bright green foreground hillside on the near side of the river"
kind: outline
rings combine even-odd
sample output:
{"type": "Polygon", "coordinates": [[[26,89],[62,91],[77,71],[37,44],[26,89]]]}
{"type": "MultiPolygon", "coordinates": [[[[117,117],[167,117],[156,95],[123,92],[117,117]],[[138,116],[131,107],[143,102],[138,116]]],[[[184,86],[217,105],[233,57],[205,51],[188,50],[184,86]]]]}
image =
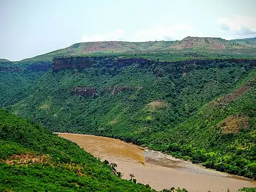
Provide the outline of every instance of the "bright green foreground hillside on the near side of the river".
{"type": "MultiPolygon", "coordinates": [[[[152,191],[77,144],[0,109],[0,191],[152,191]]],[[[153,190],[154,191],[154,190],[153,190]]]]}

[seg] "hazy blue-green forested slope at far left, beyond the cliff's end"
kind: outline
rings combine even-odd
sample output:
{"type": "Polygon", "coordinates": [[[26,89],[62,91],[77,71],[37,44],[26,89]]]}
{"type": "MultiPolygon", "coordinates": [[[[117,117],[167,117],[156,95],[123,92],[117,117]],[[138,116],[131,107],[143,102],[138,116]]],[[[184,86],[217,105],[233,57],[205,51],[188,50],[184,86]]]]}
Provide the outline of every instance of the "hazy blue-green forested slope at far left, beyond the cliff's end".
{"type": "Polygon", "coordinates": [[[52,68],[52,62],[0,61],[0,107],[29,96],[31,88],[52,68]]]}

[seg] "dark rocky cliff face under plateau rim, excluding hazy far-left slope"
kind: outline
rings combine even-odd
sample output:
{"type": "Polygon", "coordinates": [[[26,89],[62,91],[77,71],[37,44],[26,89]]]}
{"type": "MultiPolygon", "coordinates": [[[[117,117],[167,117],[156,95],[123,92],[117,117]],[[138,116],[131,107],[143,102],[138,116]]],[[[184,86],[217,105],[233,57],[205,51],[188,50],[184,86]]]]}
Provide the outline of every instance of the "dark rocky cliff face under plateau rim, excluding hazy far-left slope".
{"type": "Polygon", "coordinates": [[[255,59],[191,59],[180,62],[161,62],[153,61],[144,58],[125,58],[119,59],[113,57],[61,57],[54,59],[52,70],[58,72],[61,69],[84,69],[90,66],[104,66],[104,67],[123,67],[129,66],[133,63],[139,63],[140,66],[147,65],[179,65],[184,67],[184,72],[188,72],[193,67],[191,65],[209,65],[212,63],[250,63],[251,66],[256,66],[255,59]]]}

